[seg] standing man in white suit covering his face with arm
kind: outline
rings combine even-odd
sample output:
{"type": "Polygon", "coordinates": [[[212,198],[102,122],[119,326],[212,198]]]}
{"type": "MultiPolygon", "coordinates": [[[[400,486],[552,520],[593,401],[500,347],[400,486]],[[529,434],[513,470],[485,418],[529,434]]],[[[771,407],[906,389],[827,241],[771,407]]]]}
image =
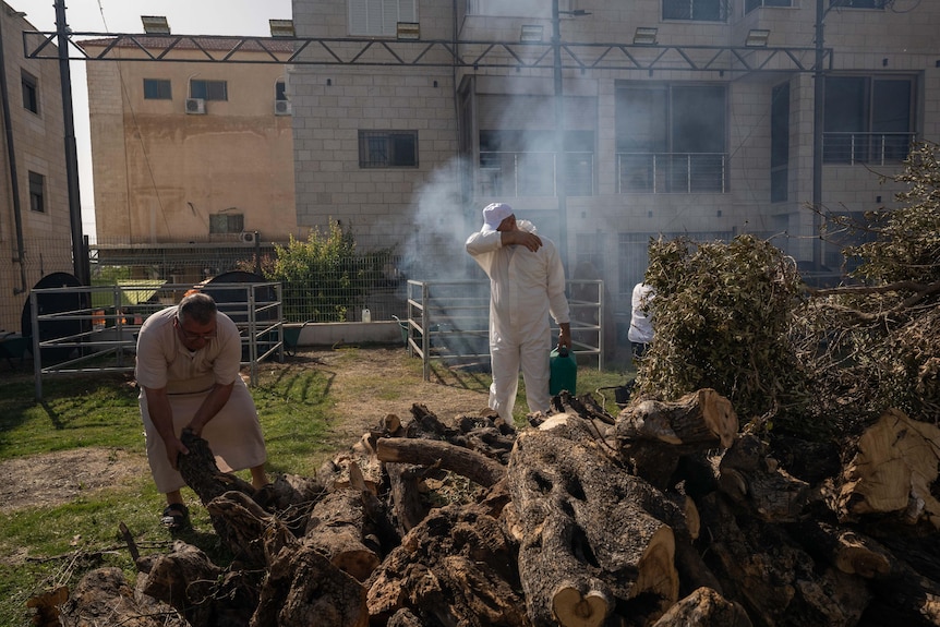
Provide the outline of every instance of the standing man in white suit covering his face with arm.
{"type": "Polygon", "coordinates": [[[551,240],[537,234],[531,222],[517,221],[513,207],[504,203],[483,209],[483,228],[467,239],[466,246],[490,277],[490,407],[513,422],[521,367],[529,411],[547,413],[549,314],[561,328],[558,348],[571,348],[565,268],[558,251],[551,240]]]}

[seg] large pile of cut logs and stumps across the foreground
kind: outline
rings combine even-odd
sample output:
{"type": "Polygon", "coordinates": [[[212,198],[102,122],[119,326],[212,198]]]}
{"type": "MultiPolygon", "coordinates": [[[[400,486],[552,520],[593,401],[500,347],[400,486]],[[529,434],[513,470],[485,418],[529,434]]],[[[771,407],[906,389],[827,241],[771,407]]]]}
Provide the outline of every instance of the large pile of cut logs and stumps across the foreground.
{"type": "Polygon", "coordinates": [[[940,624],[936,425],[889,411],[820,445],[740,433],[711,389],[616,417],[590,395],[552,402],[518,432],[490,410],[445,422],[414,405],[315,478],[261,491],[189,436],[181,471],[234,563],[179,541],[142,556],[128,533],[136,583],[93,571],[60,620],[940,624]]]}

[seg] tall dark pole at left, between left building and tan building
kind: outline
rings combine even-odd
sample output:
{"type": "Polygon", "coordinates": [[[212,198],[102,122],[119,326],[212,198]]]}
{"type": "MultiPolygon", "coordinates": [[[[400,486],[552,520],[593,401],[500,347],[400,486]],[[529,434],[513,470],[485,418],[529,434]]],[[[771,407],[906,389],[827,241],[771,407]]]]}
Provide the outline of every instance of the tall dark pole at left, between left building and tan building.
{"type": "Polygon", "coordinates": [[[75,147],[75,119],[72,109],[72,73],[69,70],[69,26],[65,0],[56,0],[56,32],[59,47],[59,77],[62,85],[62,121],[65,131],[65,178],[69,185],[69,219],[72,227],[72,264],[75,278],[92,285],[88,251],[82,233],[82,198],[79,192],[79,150],[75,147]]]}

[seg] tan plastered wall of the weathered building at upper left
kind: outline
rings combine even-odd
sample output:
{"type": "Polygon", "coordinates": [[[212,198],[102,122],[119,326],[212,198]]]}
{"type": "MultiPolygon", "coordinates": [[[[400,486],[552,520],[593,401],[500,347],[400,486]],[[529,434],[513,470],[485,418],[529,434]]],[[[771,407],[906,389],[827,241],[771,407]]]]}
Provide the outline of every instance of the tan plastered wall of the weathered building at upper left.
{"type": "Polygon", "coordinates": [[[304,238],[292,118],[275,114],[275,83],[286,77],[277,64],[88,63],[98,243],[225,240],[209,238],[218,214],[242,214],[244,230],[266,241],[304,238]],[[145,99],[144,79],[169,80],[172,99],[145,99]],[[226,81],[228,100],[188,114],[191,79],[226,81]]]}

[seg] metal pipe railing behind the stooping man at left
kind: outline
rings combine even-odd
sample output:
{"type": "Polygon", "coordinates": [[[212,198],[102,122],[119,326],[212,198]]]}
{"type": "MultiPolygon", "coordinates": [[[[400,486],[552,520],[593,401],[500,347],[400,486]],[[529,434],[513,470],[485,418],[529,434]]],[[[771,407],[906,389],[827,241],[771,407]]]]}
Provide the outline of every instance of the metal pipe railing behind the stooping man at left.
{"type": "MultiPolygon", "coordinates": [[[[31,352],[36,398],[43,379],[60,374],[133,372],[137,333],[150,315],[179,302],[190,284],[34,289],[29,294],[31,352]]],[[[242,365],[257,383],[257,363],[284,360],[280,284],[216,284],[215,298],[242,337],[242,365]]]]}

